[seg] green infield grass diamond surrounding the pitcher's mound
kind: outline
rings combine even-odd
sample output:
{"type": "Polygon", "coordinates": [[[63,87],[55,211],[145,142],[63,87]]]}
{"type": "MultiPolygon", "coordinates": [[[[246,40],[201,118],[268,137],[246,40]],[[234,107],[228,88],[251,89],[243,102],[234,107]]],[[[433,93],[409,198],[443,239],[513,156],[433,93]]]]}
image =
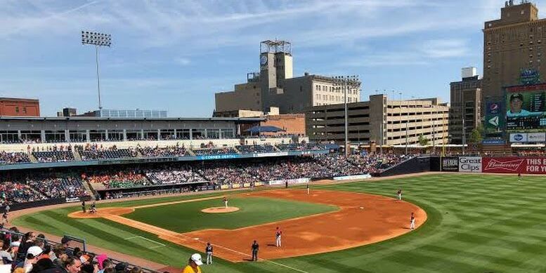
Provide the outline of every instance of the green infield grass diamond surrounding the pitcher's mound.
{"type": "Polygon", "coordinates": [[[266,222],[335,211],[336,206],[264,197],[230,198],[229,206],[240,208],[233,213],[202,213],[203,208],[222,206],[219,199],[167,206],[138,208],[126,218],[169,229],[192,232],[200,229],[237,229],[266,222]],[[158,213],[160,212],[160,213],[158,213]],[[165,219],[169,219],[166,221],[165,219]]]}

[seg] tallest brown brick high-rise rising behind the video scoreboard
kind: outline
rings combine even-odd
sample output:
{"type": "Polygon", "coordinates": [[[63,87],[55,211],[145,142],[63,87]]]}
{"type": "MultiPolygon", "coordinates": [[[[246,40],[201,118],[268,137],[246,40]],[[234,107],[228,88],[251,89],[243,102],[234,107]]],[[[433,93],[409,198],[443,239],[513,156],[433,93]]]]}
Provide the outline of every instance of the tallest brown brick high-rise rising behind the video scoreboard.
{"type": "Polygon", "coordinates": [[[546,65],[542,65],[545,38],[546,20],[538,18],[538,8],[528,1],[505,2],[500,19],[485,23],[482,91],[485,102],[504,102],[503,88],[520,84],[521,72],[526,69],[546,75],[546,65]]]}

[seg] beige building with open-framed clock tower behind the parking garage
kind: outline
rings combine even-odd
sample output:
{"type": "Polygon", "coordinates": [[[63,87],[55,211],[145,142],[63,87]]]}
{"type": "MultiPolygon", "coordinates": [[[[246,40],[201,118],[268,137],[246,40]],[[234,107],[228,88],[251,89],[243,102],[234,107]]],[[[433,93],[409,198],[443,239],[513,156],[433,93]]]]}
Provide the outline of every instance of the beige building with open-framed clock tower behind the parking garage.
{"type": "MultiPolygon", "coordinates": [[[[330,76],[305,73],[294,77],[292,45],[288,41],[262,41],[260,72],[247,74],[245,84],[234,91],[214,94],[214,116],[238,110],[268,112],[278,107],[280,114],[304,113],[308,107],[344,102],[344,90],[330,76]]],[[[347,102],[360,101],[360,83],[347,88],[347,102]]]]}

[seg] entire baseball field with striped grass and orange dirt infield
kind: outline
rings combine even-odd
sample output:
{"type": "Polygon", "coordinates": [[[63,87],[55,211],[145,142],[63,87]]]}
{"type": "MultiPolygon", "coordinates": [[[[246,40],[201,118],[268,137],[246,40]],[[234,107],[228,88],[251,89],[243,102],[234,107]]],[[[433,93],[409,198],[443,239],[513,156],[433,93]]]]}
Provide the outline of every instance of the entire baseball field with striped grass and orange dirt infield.
{"type": "Polygon", "coordinates": [[[210,240],[218,257],[202,267],[207,273],[545,272],[545,182],[431,174],[313,185],[309,195],[303,188],[230,192],[229,206],[239,208],[232,213],[202,213],[223,206],[226,192],[214,192],[98,204],[93,218],[78,218],[78,205],[55,208],[13,225],[178,268],[210,240]],[[398,189],[407,202],[394,200],[398,189]],[[417,213],[413,231],[410,212],[417,213]],[[275,248],[279,225],[283,246],[275,248]],[[264,260],[245,261],[252,238],[264,260]]]}

